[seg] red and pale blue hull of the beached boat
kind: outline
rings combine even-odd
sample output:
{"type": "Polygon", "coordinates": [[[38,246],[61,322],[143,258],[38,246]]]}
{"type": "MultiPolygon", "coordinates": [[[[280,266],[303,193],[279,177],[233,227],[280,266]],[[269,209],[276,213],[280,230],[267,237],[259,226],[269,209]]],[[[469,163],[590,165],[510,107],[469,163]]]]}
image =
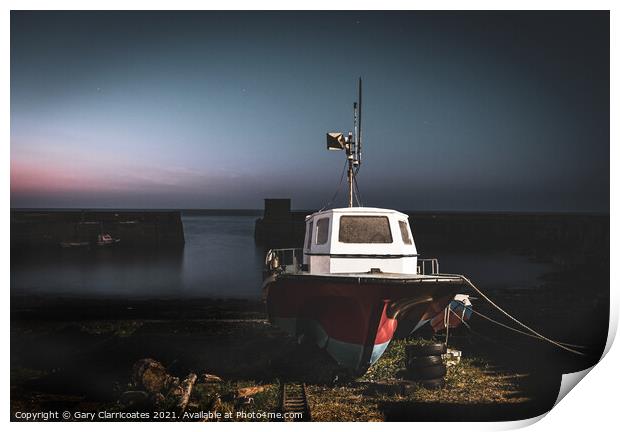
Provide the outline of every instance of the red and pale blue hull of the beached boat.
{"type": "Polygon", "coordinates": [[[326,348],[363,372],[381,356],[399,322],[428,319],[462,289],[456,278],[282,274],[267,285],[272,323],[326,348]]]}

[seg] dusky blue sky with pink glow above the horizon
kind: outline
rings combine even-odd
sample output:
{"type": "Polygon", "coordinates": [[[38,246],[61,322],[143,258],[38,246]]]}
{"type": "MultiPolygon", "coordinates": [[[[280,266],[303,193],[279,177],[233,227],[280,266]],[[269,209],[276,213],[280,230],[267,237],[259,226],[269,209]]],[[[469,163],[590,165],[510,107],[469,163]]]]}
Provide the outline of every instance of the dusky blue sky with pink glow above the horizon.
{"type": "Polygon", "coordinates": [[[364,205],[609,211],[608,12],[12,11],[11,207],[322,207],[360,76],[364,205]]]}

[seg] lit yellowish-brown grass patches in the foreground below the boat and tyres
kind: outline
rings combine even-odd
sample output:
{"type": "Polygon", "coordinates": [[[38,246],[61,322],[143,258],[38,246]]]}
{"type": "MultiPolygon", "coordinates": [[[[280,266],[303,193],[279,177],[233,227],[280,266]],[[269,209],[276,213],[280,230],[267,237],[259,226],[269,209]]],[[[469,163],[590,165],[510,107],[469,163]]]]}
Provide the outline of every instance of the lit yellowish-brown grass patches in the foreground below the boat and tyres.
{"type": "MultiPolygon", "coordinates": [[[[308,403],[313,421],[383,421],[385,402],[404,402],[411,404],[494,404],[521,403],[526,399],[519,397],[515,384],[520,378],[515,374],[499,373],[493,370],[484,359],[463,358],[458,365],[448,368],[446,385],[439,390],[417,387],[407,395],[372,394],[369,387],[373,382],[394,378],[405,362],[405,346],[428,343],[423,339],[393,341],[381,359],[364,376],[341,385],[310,384],[307,386],[308,403]]],[[[219,385],[198,385],[192,396],[193,410],[214,410],[222,413],[237,412],[277,412],[279,403],[279,382],[257,383],[254,381],[229,381],[219,385]],[[254,396],[253,402],[239,405],[226,398],[237,388],[246,386],[266,386],[264,392],[254,396]],[[220,401],[214,403],[220,396],[220,401]]],[[[226,420],[226,419],[224,419],[226,420]]],[[[232,418],[230,420],[243,420],[232,418]]],[[[261,420],[260,418],[258,420],[261,420]]]]}

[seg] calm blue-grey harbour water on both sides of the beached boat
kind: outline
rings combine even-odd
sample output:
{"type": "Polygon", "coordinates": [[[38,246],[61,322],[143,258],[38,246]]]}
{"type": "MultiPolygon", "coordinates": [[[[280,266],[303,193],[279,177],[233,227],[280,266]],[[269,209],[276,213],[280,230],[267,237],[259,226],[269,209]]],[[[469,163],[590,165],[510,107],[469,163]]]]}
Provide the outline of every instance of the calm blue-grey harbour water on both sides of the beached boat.
{"type": "MultiPolygon", "coordinates": [[[[255,216],[183,216],[180,253],[122,249],[59,250],[11,264],[12,294],[122,297],[260,297],[264,251],[254,244],[255,216]]],[[[489,288],[531,288],[549,265],[509,254],[444,255],[443,272],[489,288]]]]}

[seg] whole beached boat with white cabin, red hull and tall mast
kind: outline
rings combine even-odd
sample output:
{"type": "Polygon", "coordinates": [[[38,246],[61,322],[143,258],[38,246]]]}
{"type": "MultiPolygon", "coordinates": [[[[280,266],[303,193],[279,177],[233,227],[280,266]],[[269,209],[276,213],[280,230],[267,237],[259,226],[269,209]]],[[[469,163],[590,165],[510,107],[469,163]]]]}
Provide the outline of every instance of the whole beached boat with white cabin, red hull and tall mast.
{"type": "Polygon", "coordinates": [[[353,131],[327,134],[327,148],[346,155],[348,206],[308,215],[303,248],[269,250],[263,282],[273,325],[357,374],[464,288],[462,277],[439,273],[437,259],[418,255],[406,214],[359,203],[361,124],[360,78],[353,131]]]}

